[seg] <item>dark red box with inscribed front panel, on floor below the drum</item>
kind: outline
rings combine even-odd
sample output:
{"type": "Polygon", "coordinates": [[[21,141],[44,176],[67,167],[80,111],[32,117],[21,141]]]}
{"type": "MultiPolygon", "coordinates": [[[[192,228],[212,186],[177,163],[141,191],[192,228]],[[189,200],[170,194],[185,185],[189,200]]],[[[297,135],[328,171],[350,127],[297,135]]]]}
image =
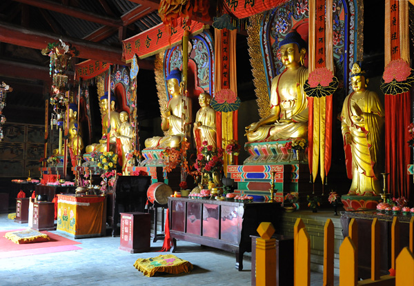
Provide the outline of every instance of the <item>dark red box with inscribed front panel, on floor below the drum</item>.
{"type": "Polygon", "coordinates": [[[121,212],[121,246],[130,253],[149,252],[151,215],[144,212],[121,212]]]}

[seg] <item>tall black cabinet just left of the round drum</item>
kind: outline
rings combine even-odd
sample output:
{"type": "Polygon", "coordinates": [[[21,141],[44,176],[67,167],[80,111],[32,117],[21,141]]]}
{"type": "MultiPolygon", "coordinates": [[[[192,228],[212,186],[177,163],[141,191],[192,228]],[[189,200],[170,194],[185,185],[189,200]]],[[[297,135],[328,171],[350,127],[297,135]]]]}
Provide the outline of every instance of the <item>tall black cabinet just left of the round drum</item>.
{"type": "Polygon", "coordinates": [[[144,212],[150,176],[118,176],[108,192],[106,221],[112,227],[112,236],[119,235],[120,212],[144,212]]]}

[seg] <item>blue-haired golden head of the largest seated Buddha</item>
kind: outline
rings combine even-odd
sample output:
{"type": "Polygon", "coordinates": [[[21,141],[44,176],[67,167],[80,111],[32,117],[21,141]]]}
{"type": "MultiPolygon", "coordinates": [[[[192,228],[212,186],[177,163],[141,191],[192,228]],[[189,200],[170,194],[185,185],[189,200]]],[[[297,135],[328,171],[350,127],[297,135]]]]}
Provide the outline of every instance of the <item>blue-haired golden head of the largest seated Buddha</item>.
{"type": "Polygon", "coordinates": [[[306,42],[296,30],[288,33],[279,43],[281,60],[286,68],[295,68],[303,65],[306,54],[306,42]]]}

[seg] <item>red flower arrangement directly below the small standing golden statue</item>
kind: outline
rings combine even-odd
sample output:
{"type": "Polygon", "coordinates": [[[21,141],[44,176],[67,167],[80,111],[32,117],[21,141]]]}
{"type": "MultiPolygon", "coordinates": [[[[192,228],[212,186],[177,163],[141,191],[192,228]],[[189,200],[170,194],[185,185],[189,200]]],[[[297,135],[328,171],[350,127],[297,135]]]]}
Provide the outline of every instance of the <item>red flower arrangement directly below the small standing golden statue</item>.
{"type": "Polygon", "coordinates": [[[208,174],[209,181],[213,181],[213,174],[223,170],[223,149],[214,150],[212,145],[207,144],[207,141],[203,141],[199,147],[194,167],[201,174],[208,174]]]}

